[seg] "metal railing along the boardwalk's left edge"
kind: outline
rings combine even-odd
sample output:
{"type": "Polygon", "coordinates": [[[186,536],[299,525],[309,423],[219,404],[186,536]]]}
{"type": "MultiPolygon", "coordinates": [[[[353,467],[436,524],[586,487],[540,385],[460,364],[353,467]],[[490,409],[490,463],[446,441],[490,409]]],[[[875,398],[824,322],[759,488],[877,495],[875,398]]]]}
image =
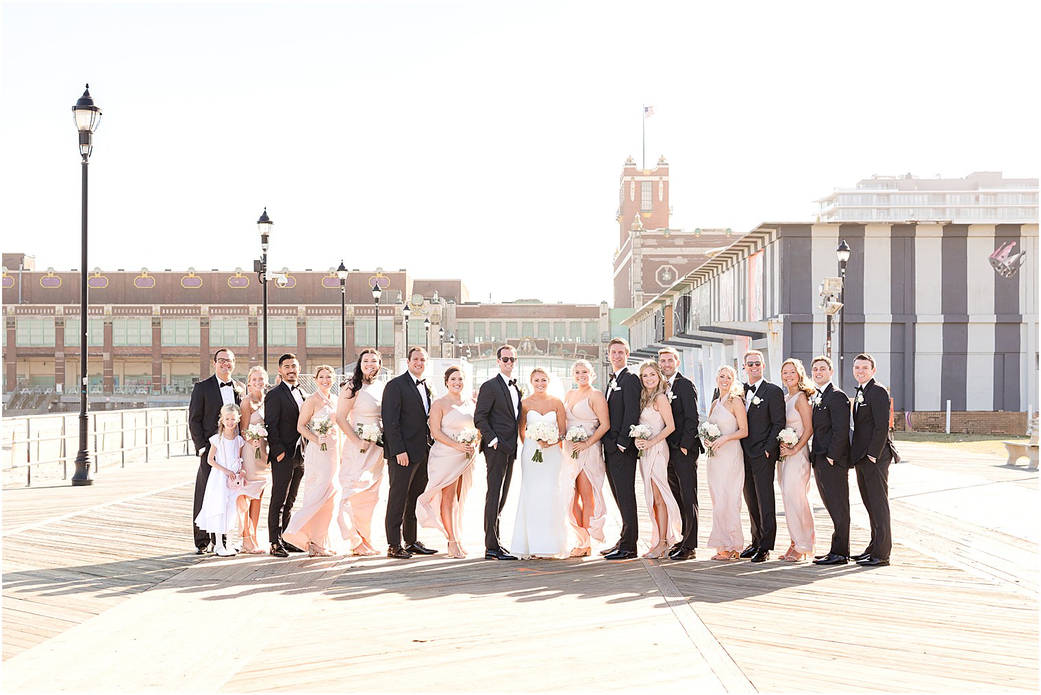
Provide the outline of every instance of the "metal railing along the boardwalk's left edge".
{"type": "MultiPolygon", "coordinates": [[[[4,472],[25,468],[25,484],[32,486],[33,466],[60,465],[68,480],[79,447],[79,414],[26,415],[3,418],[4,472]]],[[[87,444],[94,471],[102,463],[123,467],[127,454],[144,452],[147,463],[155,447],[188,454],[188,409],[144,408],[87,413],[87,444]]]]}

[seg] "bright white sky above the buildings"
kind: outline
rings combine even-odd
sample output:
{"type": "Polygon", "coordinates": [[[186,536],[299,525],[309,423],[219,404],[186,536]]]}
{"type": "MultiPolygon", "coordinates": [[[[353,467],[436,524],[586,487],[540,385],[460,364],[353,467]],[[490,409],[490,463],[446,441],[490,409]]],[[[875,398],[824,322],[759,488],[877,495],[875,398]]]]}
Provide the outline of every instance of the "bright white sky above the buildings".
{"type": "Polygon", "coordinates": [[[618,175],[671,227],[812,220],[871,174],[1039,174],[1036,2],[11,3],[3,251],[91,267],[408,268],[611,299],[618,175]]]}

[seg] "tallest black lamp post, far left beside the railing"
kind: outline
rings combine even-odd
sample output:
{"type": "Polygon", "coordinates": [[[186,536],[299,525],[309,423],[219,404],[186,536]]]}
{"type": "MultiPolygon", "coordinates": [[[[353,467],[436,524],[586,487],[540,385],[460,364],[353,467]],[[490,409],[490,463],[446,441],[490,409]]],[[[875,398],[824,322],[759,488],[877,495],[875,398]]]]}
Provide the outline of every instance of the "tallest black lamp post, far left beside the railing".
{"type": "Polygon", "coordinates": [[[76,130],[79,131],[79,155],[82,185],[80,188],[81,206],[81,248],[79,266],[79,448],[76,451],[76,471],[72,475],[72,484],[93,485],[91,479],[91,456],[86,451],[86,335],[90,320],[86,316],[86,173],[91,163],[91,153],[94,151],[94,131],[101,123],[101,109],[91,98],[91,85],[83,89],[83,96],[72,107],[76,130]]]}

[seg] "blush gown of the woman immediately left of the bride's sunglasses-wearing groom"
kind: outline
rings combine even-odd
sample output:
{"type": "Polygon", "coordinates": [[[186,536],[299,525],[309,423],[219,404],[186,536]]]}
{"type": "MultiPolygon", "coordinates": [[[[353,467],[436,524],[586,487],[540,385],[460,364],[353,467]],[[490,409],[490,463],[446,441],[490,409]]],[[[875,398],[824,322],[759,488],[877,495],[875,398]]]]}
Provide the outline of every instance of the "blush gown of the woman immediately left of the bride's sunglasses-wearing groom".
{"type": "MultiPolygon", "coordinates": [[[[450,439],[465,428],[474,427],[474,404],[464,401],[461,406],[452,407],[441,418],[441,432],[450,439]]],[[[462,481],[459,498],[453,510],[452,525],[455,529],[456,540],[462,537],[462,510],[466,504],[466,493],[474,482],[474,462],[480,457],[474,452],[467,459],[462,452],[435,441],[430,447],[427,459],[427,489],[423,491],[415,503],[415,518],[421,526],[436,529],[449,537],[441,518],[441,489],[462,481]]],[[[483,465],[483,464],[482,464],[483,465]]]]}

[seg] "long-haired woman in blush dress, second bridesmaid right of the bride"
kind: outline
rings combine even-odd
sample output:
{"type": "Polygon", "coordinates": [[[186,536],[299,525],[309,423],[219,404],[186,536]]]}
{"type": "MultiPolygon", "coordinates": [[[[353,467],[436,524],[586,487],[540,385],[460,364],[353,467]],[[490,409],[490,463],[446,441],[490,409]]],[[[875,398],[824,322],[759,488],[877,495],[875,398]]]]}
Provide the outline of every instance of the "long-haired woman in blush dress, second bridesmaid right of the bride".
{"type": "Polygon", "coordinates": [[[650,439],[637,439],[643,497],[651,514],[651,549],[643,556],[662,558],[672,543],[683,537],[680,506],[668,485],[668,444],[665,438],[676,429],[672,407],[665,389],[668,382],[658,363],[648,360],[640,365],[640,424],[651,429],[650,439]]]}

